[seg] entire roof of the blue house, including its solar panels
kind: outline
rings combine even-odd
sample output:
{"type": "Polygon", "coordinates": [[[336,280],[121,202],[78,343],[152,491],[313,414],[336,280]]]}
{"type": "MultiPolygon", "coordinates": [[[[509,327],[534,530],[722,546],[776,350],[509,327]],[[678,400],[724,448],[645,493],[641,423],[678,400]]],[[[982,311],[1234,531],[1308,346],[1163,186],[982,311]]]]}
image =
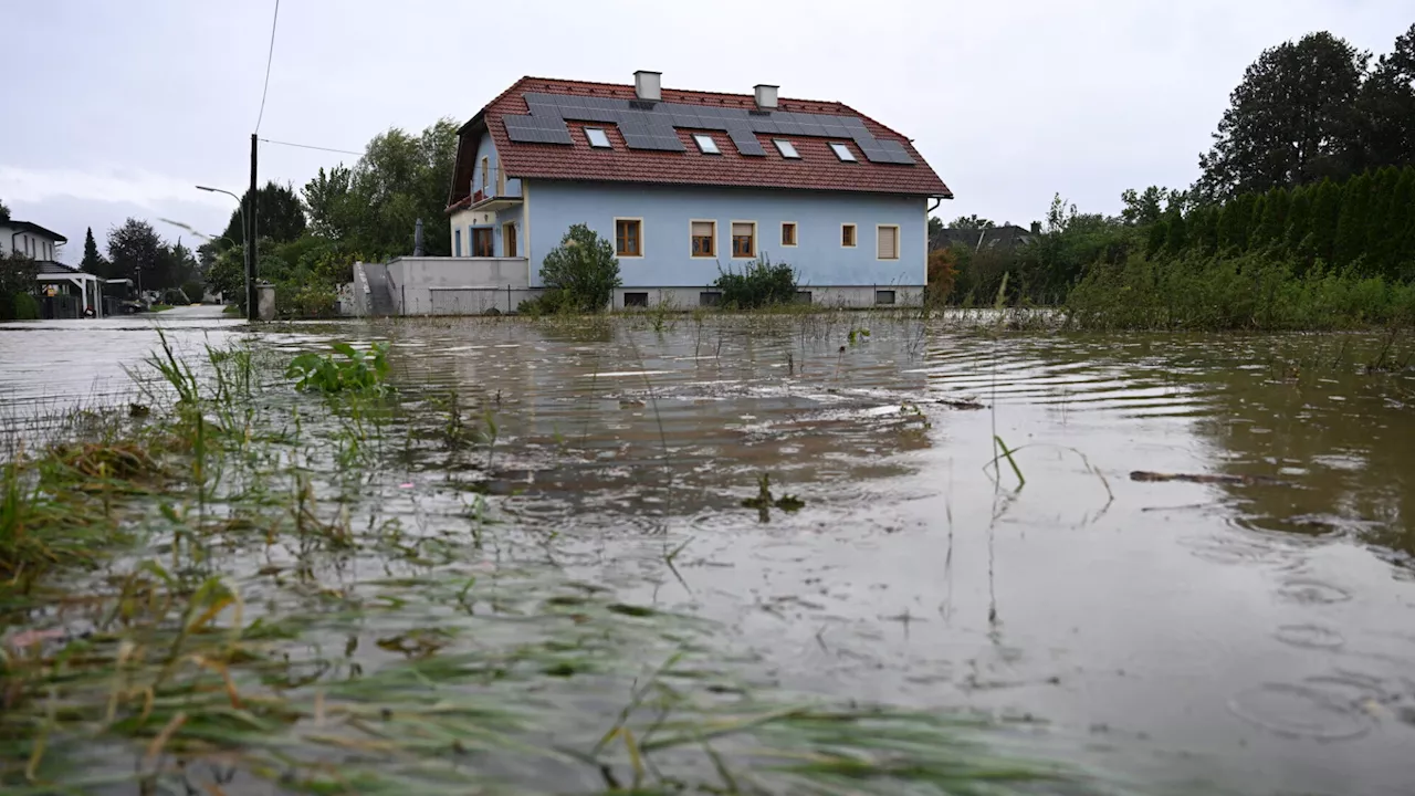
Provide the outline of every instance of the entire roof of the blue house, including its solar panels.
{"type": "Polygon", "coordinates": [[[461,127],[449,210],[470,204],[485,135],[508,178],[952,198],[907,137],[839,102],[782,98],[763,110],[750,93],[669,88],[648,102],[633,85],[521,78],[461,127]],[[610,146],[591,146],[586,127],[603,129],[610,146]],[[716,152],[703,152],[695,135],[710,136],[716,152]],[[782,154],[775,139],[791,142],[799,157],[782,154]],[[853,160],[831,144],[843,144],[853,160]]]}

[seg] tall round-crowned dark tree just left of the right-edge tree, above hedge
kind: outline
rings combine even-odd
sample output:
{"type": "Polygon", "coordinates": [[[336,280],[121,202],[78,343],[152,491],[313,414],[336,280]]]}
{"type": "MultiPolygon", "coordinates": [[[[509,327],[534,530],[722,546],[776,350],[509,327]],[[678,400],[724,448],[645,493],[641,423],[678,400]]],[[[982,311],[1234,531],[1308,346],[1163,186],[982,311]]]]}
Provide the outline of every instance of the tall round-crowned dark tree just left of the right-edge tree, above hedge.
{"type": "Polygon", "coordinates": [[[1368,59],[1330,33],[1265,50],[1230,95],[1196,188],[1227,198],[1348,174],[1368,59]]]}

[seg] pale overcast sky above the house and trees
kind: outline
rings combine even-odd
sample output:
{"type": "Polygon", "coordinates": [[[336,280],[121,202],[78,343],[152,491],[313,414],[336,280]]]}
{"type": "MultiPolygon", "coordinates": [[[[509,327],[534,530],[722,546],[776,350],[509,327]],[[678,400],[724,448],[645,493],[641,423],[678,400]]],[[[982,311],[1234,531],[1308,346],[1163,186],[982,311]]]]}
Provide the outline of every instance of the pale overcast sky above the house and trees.
{"type": "MultiPolygon", "coordinates": [[[[102,241],[123,218],[219,232],[249,176],[275,0],[0,0],[0,200],[102,241]]],[[[940,215],[1040,218],[1061,195],[1187,186],[1244,68],[1330,30],[1388,51],[1409,0],[283,0],[260,136],[362,150],[468,119],[521,75],[846,102],[916,139],[954,190],[940,215]]],[[[267,144],[303,186],[351,156],[267,144]]],[[[188,241],[190,241],[188,235],[188,241]]]]}

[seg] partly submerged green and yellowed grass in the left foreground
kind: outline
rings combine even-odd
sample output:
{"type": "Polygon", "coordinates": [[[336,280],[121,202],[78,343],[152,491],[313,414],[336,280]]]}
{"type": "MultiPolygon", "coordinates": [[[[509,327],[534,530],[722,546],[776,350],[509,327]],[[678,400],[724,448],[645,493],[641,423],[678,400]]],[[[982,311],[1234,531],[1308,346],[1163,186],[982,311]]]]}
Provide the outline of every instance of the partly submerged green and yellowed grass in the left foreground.
{"type": "Polygon", "coordinates": [[[782,693],[709,623],[569,576],[553,537],[502,523],[485,482],[463,480],[495,477],[499,397],[382,390],[386,348],[334,353],[163,340],[133,373],[142,404],[4,438],[6,793],[1085,780],[999,752],[1007,734],[978,718],[782,693]],[[423,457],[456,513],[402,483],[395,465],[423,457]]]}

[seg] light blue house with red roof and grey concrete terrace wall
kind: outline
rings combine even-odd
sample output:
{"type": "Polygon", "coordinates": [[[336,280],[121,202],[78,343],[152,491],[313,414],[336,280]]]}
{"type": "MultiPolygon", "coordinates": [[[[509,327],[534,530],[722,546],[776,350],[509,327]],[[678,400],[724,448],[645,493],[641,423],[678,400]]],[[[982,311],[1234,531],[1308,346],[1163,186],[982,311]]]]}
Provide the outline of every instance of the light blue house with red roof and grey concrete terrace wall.
{"type": "Polygon", "coordinates": [[[801,300],[918,303],[944,198],[907,137],[839,102],[528,76],[460,130],[453,256],[388,263],[388,289],[402,314],[512,309],[586,224],[614,242],[616,307],[712,305],[758,256],[797,269],[801,300]]]}

